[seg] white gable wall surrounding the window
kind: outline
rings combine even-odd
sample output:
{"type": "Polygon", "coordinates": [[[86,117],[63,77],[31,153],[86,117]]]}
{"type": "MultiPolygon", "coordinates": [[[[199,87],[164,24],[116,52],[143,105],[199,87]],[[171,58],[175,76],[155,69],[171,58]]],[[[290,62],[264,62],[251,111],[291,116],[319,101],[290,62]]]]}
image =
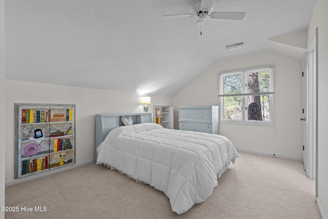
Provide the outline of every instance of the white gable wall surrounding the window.
{"type": "Polygon", "coordinates": [[[219,104],[219,72],[270,64],[275,65],[275,126],[220,124],[219,134],[229,137],[239,149],[302,160],[301,61],[274,52],[231,58],[204,72],[173,97],[175,128],[178,129],[178,106],[219,104]]]}

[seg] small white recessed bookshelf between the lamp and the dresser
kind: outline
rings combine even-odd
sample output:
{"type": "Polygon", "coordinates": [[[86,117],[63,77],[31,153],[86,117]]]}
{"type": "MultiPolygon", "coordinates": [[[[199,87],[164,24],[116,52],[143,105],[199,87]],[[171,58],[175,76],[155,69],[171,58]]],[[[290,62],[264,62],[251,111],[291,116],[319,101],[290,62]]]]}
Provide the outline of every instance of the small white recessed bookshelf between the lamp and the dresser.
{"type": "Polygon", "coordinates": [[[163,128],[173,129],[173,107],[153,106],[154,123],[163,128]]]}

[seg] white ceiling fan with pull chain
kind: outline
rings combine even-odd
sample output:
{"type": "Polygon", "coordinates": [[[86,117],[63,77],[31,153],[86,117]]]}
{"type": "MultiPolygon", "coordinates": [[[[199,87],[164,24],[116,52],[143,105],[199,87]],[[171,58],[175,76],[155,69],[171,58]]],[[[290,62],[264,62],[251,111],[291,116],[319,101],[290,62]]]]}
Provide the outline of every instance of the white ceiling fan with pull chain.
{"type": "Polygon", "coordinates": [[[194,30],[194,36],[202,35],[202,25],[207,17],[214,19],[235,19],[241,20],[246,15],[246,12],[212,12],[213,0],[196,0],[193,5],[193,14],[172,14],[163,15],[162,19],[178,19],[178,18],[190,18],[198,16],[199,20],[196,23],[194,30]],[[211,13],[212,12],[212,13],[211,13]]]}

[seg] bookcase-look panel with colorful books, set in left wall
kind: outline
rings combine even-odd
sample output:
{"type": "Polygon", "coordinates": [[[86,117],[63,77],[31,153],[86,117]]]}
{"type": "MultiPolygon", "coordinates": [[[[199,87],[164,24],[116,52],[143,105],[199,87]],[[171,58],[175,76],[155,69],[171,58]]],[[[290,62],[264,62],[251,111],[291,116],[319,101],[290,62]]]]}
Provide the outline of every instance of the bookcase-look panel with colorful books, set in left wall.
{"type": "Polygon", "coordinates": [[[14,104],[14,178],[75,164],[75,104],[14,104]]]}

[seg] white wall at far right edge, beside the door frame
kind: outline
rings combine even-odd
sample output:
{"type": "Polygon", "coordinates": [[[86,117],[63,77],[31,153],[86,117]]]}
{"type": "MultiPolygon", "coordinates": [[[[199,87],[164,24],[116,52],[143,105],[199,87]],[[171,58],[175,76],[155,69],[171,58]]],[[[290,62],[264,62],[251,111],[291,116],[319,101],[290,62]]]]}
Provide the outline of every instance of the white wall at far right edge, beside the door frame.
{"type": "Polygon", "coordinates": [[[318,27],[318,177],[317,203],[323,218],[328,218],[328,1],[317,0],[308,29],[311,39],[318,27]]]}

